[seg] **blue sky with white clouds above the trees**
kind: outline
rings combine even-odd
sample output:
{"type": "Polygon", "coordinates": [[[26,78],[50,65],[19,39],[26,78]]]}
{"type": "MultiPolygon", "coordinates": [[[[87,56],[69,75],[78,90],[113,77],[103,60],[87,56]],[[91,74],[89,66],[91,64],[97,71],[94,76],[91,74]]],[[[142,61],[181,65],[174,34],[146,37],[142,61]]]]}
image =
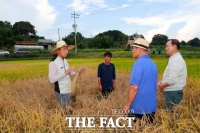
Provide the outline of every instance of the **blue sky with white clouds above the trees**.
{"type": "Polygon", "coordinates": [[[200,0],[1,0],[0,21],[28,21],[38,36],[57,41],[76,31],[91,38],[108,30],[155,34],[189,41],[200,38],[200,0]],[[59,33],[59,34],[58,34],[59,33]]]}

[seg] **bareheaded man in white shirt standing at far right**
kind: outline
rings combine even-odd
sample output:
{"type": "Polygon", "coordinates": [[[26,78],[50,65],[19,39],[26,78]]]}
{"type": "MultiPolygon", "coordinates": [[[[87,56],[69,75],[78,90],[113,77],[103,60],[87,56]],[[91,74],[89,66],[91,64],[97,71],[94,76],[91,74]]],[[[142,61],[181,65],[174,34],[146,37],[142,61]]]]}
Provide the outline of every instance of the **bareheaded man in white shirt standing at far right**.
{"type": "Polygon", "coordinates": [[[170,39],[166,43],[166,53],[169,56],[167,67],[158,88],[164,90],[167,109],[172,110],[183,98],[183,87],[186,84],[187,67],[179,53],[180,43],[177,39],[170,39]]]}

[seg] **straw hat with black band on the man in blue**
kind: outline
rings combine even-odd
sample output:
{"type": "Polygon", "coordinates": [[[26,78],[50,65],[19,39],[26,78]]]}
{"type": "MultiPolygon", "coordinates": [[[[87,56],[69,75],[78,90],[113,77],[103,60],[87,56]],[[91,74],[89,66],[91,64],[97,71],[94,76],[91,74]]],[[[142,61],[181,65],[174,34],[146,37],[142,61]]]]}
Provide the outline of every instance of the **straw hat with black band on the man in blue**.
{"type": "Polygon", "coordinates": [[[135,42],[133,43],[132,46],[148,50],[149,42],[143,38],[139,38],[139,39],[135,40],[135,42]]]}

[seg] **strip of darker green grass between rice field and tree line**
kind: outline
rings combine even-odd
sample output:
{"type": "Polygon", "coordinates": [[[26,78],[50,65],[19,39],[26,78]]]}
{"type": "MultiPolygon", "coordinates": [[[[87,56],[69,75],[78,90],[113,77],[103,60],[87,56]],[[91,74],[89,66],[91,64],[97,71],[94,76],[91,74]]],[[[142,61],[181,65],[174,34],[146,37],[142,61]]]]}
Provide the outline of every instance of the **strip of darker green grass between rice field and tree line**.
{"type": "MultiPolygon", "coordinates": [[[[153,46],[158,48],[159,46],[153,46]]],[[[155,55],[152,54],[150,50],[149,54],[152,58],[164,58],[166,57],[165,46],[161,46],[161,54],[156,51],[155,55]]],[[[200,58],[200,47],[184,46],[181,47],[180,52],[185,58],[200,58]]],[[[13,50],[11,50],[13,51],[13,50]]],[[[16,60],[38,60],[38,59],[50,59],[50,51],[44,50],[40,53],[38,50],[31,50],[29,55],[16,55],[10,51],[10,55],[0,56],[0,61],[16,61],[16,60]]],[[[119,48],[111,49],[78,49],[77,54],[75,54],[74,49],[69,51],[68,58],[102,58],[105,51],[111,51],[114,58],[132,58],[131,50],[123,50],[119,48]]]]}

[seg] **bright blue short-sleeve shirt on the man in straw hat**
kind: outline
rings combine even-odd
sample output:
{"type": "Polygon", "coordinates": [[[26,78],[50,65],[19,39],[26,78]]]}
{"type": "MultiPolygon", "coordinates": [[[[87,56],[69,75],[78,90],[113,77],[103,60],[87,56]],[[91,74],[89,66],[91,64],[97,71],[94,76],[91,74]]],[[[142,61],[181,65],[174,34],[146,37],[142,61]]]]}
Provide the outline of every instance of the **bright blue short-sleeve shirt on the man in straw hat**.
{"type": "Polygon", "coordinates": [[[130,109],[135,114],[150,114],[156,111],[157,67],[148,55],[143,55],[134,63],[130,85],[138,86],[138,91],[130,109]]]}

